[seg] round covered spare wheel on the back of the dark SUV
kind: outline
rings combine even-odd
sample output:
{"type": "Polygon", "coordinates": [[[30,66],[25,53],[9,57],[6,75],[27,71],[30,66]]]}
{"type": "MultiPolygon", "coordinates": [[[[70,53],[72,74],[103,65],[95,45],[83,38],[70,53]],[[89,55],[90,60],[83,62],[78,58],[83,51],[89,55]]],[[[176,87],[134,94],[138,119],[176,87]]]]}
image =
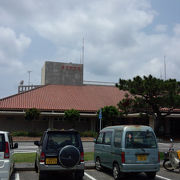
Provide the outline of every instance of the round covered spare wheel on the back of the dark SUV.
{"type": "Polygon", "coordinates": [[[72,168],[80,162],[80,152],[75,146],[67,145],[59,152],[59,162],[64,168],[72,168]]]}

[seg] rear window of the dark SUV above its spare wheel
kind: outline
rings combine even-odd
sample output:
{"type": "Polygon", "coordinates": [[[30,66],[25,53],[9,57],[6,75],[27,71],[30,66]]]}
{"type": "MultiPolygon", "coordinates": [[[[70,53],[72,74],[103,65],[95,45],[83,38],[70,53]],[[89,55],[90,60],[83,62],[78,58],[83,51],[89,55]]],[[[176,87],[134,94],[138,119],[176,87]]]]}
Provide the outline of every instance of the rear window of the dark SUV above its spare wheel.
{"type": "Polygon", "coordinates": [[[57,149],[66,145],[79,147],[79,142],[76,133],[49,133],[47,149],[57,149]]]}

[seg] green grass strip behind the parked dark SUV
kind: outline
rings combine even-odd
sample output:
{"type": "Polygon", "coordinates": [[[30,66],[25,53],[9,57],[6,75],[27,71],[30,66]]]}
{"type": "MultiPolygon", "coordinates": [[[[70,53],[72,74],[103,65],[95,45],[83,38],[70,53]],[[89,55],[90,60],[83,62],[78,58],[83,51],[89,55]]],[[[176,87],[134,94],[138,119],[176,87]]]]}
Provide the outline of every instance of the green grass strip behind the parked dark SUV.
{"type": "MultiPolygon", "coordinates": [[[[16,153],[14,155],[16,163],[34,163],[36,153],[16,153]]],[[[94,160],[94,152],[85,152],[84,153],[85,161],[94,160]]]]}

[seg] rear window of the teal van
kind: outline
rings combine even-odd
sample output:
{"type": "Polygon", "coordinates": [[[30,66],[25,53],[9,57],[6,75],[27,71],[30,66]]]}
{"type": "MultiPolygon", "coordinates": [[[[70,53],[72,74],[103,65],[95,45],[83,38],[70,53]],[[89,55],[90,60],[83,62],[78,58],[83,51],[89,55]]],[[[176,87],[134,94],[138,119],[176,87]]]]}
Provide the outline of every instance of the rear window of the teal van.
{"type": "Polygon", "coordinates": [[[128,131],[125,143],[126,148],[157,148],[155,136],[150,131],[128,131]]]}

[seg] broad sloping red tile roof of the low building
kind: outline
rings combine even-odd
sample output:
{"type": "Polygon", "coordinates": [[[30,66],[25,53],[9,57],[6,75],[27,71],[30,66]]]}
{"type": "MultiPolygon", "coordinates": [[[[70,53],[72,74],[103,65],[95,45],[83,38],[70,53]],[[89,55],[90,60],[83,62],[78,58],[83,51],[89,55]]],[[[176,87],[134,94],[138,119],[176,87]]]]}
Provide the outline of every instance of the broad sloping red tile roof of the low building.
{"type": "Polygon", "coordinates": [[[114,86],[46,85],[0,99],[0,110],[37,108],[42,111],[76,109],[95,112],[104,106],[116,106],[126,92],[114,86]]]}

